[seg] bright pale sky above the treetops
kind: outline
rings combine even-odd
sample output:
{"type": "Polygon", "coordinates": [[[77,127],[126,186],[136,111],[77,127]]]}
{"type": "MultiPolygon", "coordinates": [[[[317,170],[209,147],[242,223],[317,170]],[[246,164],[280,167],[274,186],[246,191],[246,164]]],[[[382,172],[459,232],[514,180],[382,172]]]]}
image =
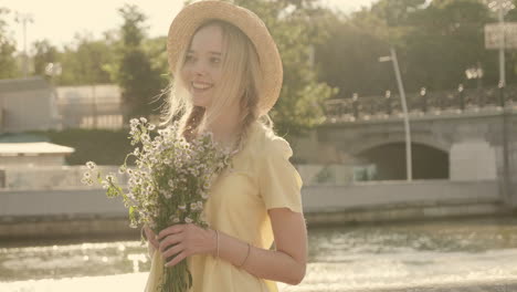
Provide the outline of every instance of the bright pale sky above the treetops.
{"type": "MultiPolygon", "coordinates": [[[[321,3],[344,12],[370,7],[377,0],[320,0],[321,3]]],[[[0,8],[8,8],[8,30],[23,50],[23,29],[14,21],[17,12],[30,14],[33,23],[27,25],[28,46],[48,39],[51,44],[62,48],[73,42],[74,34],[91,33],[101,38],[107,30],[117,29],[122,17],[117,9],[124,3],[137,4],[148,17],[149,36],[166,35],[170,22],[182,7],[183,0],[0,0],[0,8]]]]}

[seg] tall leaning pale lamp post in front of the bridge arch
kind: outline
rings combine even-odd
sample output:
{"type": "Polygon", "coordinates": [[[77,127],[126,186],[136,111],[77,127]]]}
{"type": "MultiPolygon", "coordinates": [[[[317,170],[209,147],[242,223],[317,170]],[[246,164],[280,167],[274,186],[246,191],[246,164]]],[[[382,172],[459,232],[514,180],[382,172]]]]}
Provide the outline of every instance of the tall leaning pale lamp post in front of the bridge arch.
{"type": "Polygon", "coordinates": [[[408,181],[413,180],[412,158],[411,158],[411,132],[409,125],[408,105],[405,102],[405,92],[402,84],[402,77],[400,76],[399,62],[397,61],[397,52],[393,48],[390,48],[390,55],[379,58],[379,62],[389,62],[393,64],[393,70],[397,77],[397,84],[399,86],[399,94],[402,102],[402,113],[404,117],[404,132],[405,132],[405,173],[408,181]]]}

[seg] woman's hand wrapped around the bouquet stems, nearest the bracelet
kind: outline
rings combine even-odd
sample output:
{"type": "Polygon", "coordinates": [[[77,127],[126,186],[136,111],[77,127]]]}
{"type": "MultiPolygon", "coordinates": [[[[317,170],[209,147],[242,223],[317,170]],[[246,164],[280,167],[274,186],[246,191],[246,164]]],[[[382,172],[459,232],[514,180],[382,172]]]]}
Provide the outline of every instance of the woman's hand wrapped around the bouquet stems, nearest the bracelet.
{"type": "Polygon", "coordinates": [[[159,249],[166,267],[172,267],[191,254],[211,253],[215,250],[215,231],[193,223],[173,225],[158,233],[159,249]]]}

